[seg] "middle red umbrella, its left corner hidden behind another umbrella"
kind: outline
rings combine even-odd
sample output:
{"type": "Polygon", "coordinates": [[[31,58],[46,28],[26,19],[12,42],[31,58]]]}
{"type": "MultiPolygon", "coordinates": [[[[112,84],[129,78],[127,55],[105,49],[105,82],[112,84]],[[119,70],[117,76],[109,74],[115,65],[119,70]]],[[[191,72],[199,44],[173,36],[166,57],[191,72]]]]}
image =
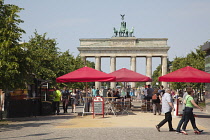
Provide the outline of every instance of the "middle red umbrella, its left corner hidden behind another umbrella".
{"type": "Polygon", "coordinates": [[[119,69],[110,73],[110,75],[116,76],[115,82],[151,82],[152,79],[126,68],[119,69]]]}

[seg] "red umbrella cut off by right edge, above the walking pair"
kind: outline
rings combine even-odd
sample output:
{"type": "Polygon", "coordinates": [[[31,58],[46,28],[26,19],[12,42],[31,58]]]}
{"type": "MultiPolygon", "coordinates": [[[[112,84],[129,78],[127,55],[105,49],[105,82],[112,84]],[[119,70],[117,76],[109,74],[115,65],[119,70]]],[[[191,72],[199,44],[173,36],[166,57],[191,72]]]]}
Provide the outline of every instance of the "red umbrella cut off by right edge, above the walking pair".
{"type": "Polygon", "coordinates": [[[210,83],[210,74],[187,66],[160,76],[158,79],[163,82],[210,83]]]}

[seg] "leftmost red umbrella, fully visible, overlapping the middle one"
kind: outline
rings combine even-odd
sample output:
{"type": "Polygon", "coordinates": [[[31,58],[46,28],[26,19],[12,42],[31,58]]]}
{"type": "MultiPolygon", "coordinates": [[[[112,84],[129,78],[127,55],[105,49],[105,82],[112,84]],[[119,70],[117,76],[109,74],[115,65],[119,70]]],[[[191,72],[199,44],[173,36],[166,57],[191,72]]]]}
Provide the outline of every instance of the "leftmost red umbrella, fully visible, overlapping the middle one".
{"type": "Polygon", "coordinates": [[[56,78],[56,82],[108,82],[115,81],[115,79],[115,76],[85,66],[56,78]]]}

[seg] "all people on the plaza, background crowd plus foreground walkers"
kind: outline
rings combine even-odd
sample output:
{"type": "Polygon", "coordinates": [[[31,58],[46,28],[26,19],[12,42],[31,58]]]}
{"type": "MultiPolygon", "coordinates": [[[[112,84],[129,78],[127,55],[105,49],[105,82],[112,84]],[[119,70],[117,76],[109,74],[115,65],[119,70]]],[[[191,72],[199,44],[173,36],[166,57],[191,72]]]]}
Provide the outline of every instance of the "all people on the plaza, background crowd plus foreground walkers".
{"type": "Polygon", "coordinates": [[[59,115],[59,104],[62,102],[64,113],[67,113],[69,103],[72,106],[72,113],[76,112],[76,106],[78,104],[83,104],[85,97],[95,97],[95,96],[106,96],[106,97],[116,97],[116,99],[140,99],[148,102],[152,102],[153,114],[157,113],[161,115],[161,112],[164,113],[165,118],[156,125],[158,131],[160,128],[168,122],[169,131],[176,131],[176,133],[183,133],[187,135],[186,126],[191,121],[192,127],[195,133],[201,133],[203,130],[199,130],[195,123],[195,118],[193,115],[193,107],[203,110],[200,106],[196,104],[193,99],[193,90],[187,88],[185,94],[183,95],[183,115],[177,125],[177,128],[174,129],[172,126],[172,115],[171,112],[174,111],[174,99],[179,97],[178,92],[171,90],[169,88],[164,89],[163,86],[159,88],[152,88],[151,85],[145,85],[142,88],[116,88],[116,89],[107,89],[104,95],[103,89],[96,89],[94,86],[87,89],[87,91],[81,89],[68,89],[63,87],[62,90],[59,90],[58,87],[55,87],[54,91],[54,100],[53,100],[53,112],[54,114],[59,115]],[[182,129],[181,129],[182,127],[182,129]]]}

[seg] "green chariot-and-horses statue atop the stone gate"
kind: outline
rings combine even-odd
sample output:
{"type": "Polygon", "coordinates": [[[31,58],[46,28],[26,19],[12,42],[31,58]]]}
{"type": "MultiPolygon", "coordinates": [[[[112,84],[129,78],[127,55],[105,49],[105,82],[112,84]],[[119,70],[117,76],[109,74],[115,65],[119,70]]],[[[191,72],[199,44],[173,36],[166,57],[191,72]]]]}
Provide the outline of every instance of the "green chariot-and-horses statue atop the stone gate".
{"type": "Polygon", "coordinates": [[[121,26],[119,31],[114,27],[114,37],[133,37],[134,28],[132,27],[131,31],[129,32],[126,28],[126,22],[124,21],[124,15],[120,15],[122,18],[121,26]]]}

